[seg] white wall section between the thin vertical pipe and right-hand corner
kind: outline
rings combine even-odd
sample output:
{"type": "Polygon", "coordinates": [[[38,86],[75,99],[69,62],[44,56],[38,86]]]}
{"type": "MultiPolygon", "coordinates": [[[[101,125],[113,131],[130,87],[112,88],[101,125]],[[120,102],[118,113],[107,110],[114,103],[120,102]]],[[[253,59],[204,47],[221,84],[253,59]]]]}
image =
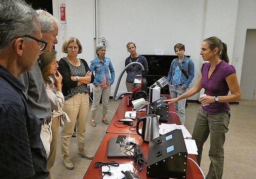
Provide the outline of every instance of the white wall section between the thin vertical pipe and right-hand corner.
{"type": "MultiPolygon", "coordinates": [[[[106,56],[111,58],[117,76],[128,57],[128,42],[136,43],[139,54],[155,54],[157,49],[164,50],[166,55],[175,55],[173,46],[180,42],[185,44],[185,54],[191,55],[196,66],[201,66],[200,47],[195,44],[202,41],[204,12],[194,11],[196,8],[204,8],[204,1],[98,0],[98,35],[107,40],[106,56]]],[[[126,73],[120,93],[126,91],[125,78],[126,73]]]]}

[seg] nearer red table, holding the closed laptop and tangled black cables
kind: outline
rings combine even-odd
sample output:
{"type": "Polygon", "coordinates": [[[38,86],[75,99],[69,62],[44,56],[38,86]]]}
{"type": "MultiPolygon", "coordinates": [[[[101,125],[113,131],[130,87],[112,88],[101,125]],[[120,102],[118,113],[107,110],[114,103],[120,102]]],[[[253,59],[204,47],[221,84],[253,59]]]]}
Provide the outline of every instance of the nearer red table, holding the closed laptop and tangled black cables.
{"type": "MultiPolygon", "coordinates": [[[[102,162],[107,162],[107,161],[116,161],[117,163],[129,163],[132,161],[132,158],[108,158],[107,157],[107,152],[108,152],[108,142],[110,137],[117,137],[118,133],[106,133],[104,138],[102,139],[102,142],[100,144],[100,147],[98,148],[94,159],[92,160],[90,166],[88,167],[84,179],[101,179],[102,178],[102,173],[100,172],[99,168],[95,168],[93,164],[96,161],[102,161],[102,162]]],[[[128,136],[128,135],[127,135],[128,136]]],[[[136,143],[140,144],[142,147],[142,154],[146,159],[148,159],[148,143],[143,142],[141,137],[139,135],[134,135],[131,134],[130,137],[134,137],[136,139],[136,143]]],[[[188,157],[195,159],[194,155],[188,154],[188,157]]],[[[135,170],[134,172],[140,179],[147,179],[149,177],[146,176],[146,166],[141,170],[135,170]]],[[[188,159],[187,161],[187,172],[186,172],[186,179],[202,179],[202,175],[200,173],[200,170],[196,165],[188,159]]]]}

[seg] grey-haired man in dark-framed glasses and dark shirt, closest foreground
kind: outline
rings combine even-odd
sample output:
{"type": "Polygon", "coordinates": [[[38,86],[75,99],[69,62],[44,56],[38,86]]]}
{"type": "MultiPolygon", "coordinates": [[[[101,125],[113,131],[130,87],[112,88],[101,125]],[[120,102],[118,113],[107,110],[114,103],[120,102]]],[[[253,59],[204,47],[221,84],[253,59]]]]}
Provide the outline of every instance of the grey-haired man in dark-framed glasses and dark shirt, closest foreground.
{"type": "Polygon", "coordinates": [[[48,177],[42,125],[17,80],[47,45],[37,17],[24,1],[0,0],[0,178],[48,177]]]}

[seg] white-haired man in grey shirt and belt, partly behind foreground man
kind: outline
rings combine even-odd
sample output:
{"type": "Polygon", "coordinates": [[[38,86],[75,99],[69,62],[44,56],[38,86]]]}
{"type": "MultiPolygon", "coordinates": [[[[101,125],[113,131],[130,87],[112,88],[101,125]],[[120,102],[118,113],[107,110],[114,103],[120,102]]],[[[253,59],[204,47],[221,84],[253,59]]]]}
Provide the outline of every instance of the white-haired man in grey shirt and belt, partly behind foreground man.
{"type": "MultiPolygon", "coordinates": [[[[48,42],[42,52],[51,52],[54,44],[58,43],[56,38],[58,35],[58,20],[44,10],[37,10],[36,12],[39,14],[38,21],[41,25],[42,37],[48,42]]],[[[53,113],[40,70],[40,57],[36,61],[34,68],[19,76],[18,79],[26,86],[25,95],[28,98],[28,103],[42,123],[41,139],[48,157],[52,141],[51,124],[53,113]]]]}

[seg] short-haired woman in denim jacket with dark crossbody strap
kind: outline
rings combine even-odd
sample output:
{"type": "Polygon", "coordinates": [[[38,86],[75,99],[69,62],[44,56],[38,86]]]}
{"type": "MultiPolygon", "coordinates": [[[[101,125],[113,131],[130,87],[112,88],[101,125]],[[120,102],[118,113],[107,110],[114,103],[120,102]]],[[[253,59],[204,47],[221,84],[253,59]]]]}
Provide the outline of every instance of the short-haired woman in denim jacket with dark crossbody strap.
{"type": "MultiPolygon", "coordinates": [[[[186,78],[186,76],[182,73],[176,59],[174,59],[168,73],[169,90],[172,99],[188,91],[188,87],[193,80],[195,74],[193,61],[190,58],[184,56],[185,46],[180,43],[176,44],[174,46],[174,52],[177,54],[177,59],[180,62],[180,66],[187,74],[188,78],[186,78]]],[[[180,122],[182,125],[184,125],[186,117],[185,105],[186,99],[174,103],[174,107],[180,117],[180,122]]]]}

